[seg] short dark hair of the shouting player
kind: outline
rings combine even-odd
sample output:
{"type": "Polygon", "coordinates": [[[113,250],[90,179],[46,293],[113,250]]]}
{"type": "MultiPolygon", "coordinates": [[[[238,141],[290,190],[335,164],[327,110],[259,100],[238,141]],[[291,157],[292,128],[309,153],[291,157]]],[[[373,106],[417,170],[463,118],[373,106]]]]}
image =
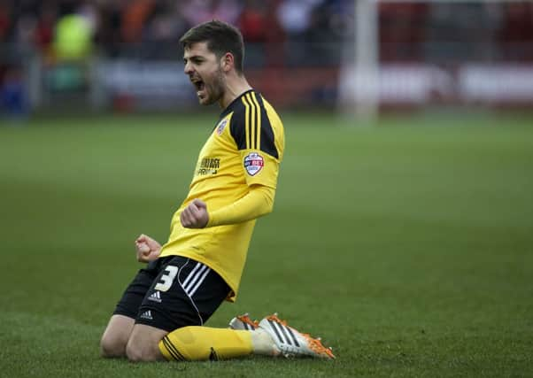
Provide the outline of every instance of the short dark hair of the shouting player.
{"type": "Polygon", "coordinates": [[[190,28],[180,38],[183,49],[197,42],[207,42],[207,49],[212,51],[217,58],[221,58],[227,52],[233,54],[236,72],[243,73],[243,35],[236,27],[218,19],[213,19],[190,28]]]}

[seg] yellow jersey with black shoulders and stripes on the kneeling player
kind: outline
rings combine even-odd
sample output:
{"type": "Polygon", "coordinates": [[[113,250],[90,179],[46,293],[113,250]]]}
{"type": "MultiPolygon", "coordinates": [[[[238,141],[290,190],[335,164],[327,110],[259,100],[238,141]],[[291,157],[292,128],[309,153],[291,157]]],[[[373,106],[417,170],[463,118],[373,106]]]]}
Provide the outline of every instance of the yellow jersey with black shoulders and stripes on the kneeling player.
{"type": "Polygon", "coordinates": [[[222,226],[210,220],[206,228],[183,228],[180,214],[195,198],[205,202],[211,216],[252,187],[275,190],[284,147],[282,120],[274,108],[253,89],[238,96],[221,112],[200,150],[189,195],[174,212],[160,257],[184,256],[209,266],[228,283],[228,300],[235,301],[256,220],[222,226]]]}

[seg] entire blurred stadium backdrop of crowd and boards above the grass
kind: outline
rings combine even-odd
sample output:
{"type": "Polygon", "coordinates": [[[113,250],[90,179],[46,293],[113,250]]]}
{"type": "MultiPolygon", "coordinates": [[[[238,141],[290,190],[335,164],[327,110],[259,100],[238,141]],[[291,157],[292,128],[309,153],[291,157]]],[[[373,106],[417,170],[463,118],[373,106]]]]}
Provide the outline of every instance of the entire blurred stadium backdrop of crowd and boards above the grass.
{"type": "Polygon", "coordinates": [[[4,0],[2,112],[196,109],[177,41],[208,19],[279,107],[533,105],[530,1],[4,0]]]}

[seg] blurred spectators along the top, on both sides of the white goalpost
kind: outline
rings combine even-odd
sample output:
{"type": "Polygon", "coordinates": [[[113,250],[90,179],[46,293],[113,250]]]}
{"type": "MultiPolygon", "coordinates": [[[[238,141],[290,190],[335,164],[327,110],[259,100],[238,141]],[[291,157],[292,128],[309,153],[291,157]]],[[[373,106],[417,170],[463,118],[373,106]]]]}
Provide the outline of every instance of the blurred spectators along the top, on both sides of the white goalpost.
{"type": "MultiPolygon", "coordinates": [[[[297,65],[313,58],[321,66],[328,59],[338,63],[339,42],[352,37],[353,4],[353,0],[0,0],[0,43],[36,48],[50,59],[88,55],[95,49],[111,58],[179,58],[176,42],[189,27],[222,19],[242,30],[252,66],[290,64],[287,57],[297,65]]],[[[504,58],[533,58],[533,51],[523,51],[525,43],[533,42],[533,2],[383,2],[379,19],[384,61],[443,58],[450,51],[467,58],[460,49],[463,55],[471,54],[483,49],[484,42],[491,51],[481,55],[494,54],[501,42],[507,49],[504,58]],[[439,41],[461,45],[432,50],[433,42],[439,41]]]]}

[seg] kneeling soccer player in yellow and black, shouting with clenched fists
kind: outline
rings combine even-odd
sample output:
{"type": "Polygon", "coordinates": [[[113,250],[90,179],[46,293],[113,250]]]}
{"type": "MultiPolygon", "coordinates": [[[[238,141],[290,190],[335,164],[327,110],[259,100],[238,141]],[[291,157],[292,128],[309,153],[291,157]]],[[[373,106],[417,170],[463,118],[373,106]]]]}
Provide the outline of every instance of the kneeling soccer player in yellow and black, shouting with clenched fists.
{"type": "Polygon", "coordinates": [[[132,361],[230,359],[252,353],[333,358],[319,339],[271,315],[230,328],[205,321],[235,301],[256,219],[272,211],[282,162],[282,121],[243,75],[243,37],[226,23],[191,28],[180,40],[184,72],[200,104],[222,112],[197,160],[189,195],[168,241],[135,240],[148,263],[121,297],[101,340],[104,357],[132,361]]]}

